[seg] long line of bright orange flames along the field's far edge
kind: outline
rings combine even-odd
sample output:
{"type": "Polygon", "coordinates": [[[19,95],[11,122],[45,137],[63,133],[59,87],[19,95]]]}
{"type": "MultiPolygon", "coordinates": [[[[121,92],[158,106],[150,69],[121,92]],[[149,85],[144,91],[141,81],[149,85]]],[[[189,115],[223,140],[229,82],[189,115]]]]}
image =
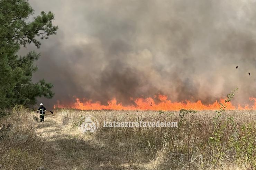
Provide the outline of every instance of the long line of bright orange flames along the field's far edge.
{"type": "MultiPolygon", "coordinates": [[[[122,103],[117,103],[116,98],[108,101],[108,105],[102,105],[99,101],[92,102],[92,100],[81,100],[76,98],[76,102],[70,105],[62,105],[57,101],[54,108],[74,108],[80,110],[180,110],[181,108],[193,110],[217,110],[220,108],[220,104],[217,100],[213,104],[205,105],[202,104],[201,100],[194,103],[187,100],[185,102],[172,102],[171,100],[168,100],[165,95],[158,95],[158,99],[160,100],[159,103],[155,103],[154,99],[151,97],[137,99],[130,98],[136,105],[123,106],[122,103]],[[152,106],[150,106],[151,102],[152,106]]],[[[238,105],[238,107],[235,107],[231,102],[228,102],[226,104],[227,110],[256,109],[256,98],[250,97],[249,100],[254,100],[253,106],[246,105],[242,107],[241,105],[238,105]]],[[[224,99],[221,99],[220,103],[224,103],[224,101],[224,99]]]]}

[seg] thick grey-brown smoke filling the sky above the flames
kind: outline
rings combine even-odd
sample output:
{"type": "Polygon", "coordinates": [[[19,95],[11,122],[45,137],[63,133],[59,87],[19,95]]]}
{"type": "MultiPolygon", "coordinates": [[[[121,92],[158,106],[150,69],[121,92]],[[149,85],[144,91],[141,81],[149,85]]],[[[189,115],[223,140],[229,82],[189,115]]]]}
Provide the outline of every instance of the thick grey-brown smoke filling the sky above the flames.
{"type": "Polygon", "coordinates": [[[256,97],[255,0],[29,2],[59,27],[40,49],[20,50],[41,53],[34,81],[54,84],[54,98],[38,101],[48,107],[158,94],[208,104],[236,86],[236,102],[256,97]]]}

